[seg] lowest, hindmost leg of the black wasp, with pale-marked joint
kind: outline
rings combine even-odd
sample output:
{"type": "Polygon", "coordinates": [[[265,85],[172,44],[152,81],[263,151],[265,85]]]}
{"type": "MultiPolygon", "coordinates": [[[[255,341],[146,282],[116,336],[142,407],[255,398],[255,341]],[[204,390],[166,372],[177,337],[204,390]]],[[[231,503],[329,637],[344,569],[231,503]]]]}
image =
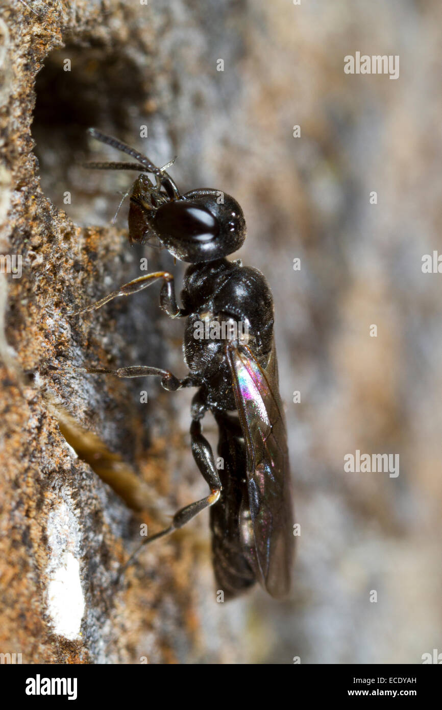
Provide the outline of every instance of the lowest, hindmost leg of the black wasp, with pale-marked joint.
{"type": "Polygon", "coordinates": [[[189,521],[192,520],[195,515],[201,513],[201,510],[205,510],[206,508],[213,506],[214,503],[218,501],[219,496],[221,495],[221,481],[219,479],[218,471],[216,470],[214,454],[212,452],[211,445],[207,441],[206,437],[201,434],[201,423],[199,422],[199,420],[192,421],[192,424],[190,425],[190,436],[192,439],[192,454],[197,463],[199,471],[201,471],[204,480],[211,489],[211,493],[209,496],[201,498],[201,500],[199,501],[194,501],[194,503],[190,503],[189,506],[180,508],[173,516],[172,523],[169,525],[168,528],[160,530],[160,532],[155,533],[155,535],[146,537],[145,540],[143,540],[143,542],[141,543],[141,545],[139,545],[137,550],[133,552],[133,555],[129,557],[123,569],[121,569],[119,575],[120,577],[124,574],[124,572],[126,572],[126,569],[134,562],[140,550],[143,550],[145,545],[150,545],[150,543],[154,540],[158,540],[160,537],[164,537],[165,535],[170,535],[170,533],[174,532],[174,530],[179,530],[179,528],[182,528],[183,525],[189,523],[189,521]]]}

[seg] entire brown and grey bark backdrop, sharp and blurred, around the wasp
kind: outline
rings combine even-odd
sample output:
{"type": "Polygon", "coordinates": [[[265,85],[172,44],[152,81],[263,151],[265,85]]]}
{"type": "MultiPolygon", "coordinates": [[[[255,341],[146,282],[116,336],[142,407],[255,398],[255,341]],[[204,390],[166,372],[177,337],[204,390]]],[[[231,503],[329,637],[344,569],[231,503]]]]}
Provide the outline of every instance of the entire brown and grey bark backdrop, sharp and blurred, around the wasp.
{"type": "Polygon", "coordinates": [[[21,278],[0,275],[0,652],[421,662],[441,648],[441,276],[421,271],[440,249],[440,3],[32,7],[13,0],[0,21],[0,254],[23,259],[21,278]],[[346,75],[357,50],[400,55],[399,79],[346,75]],[[79,167],[120,157],[88,126],[159,164],[178,155],[183,190],[243,206],[239,256],[275,296],[302,525],[291,602],[256,590],[216,603],[206,514],[116,584],[140,523],[157,530],[206,487],[189,454],[191,393],[51,369],[184,375],[182,324],[160,315],[158,287],[66,315],[139,275],[142,256],[182,275],[164,252],[128,246],[127,204],[111,226],[132,178],[79,167]],[[346,473],[356,449],[399,454],[399,476],[346,473]],[[118,471],[126,500],[109,485],[118,471]]]}

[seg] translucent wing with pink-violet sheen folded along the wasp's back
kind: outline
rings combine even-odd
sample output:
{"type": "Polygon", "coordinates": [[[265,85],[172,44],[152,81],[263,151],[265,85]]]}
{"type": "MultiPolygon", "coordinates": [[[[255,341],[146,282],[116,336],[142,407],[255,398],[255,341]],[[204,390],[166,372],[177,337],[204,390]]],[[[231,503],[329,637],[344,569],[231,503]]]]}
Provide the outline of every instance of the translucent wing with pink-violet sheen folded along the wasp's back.
{"type": "Polygon", "coordinates": [[[247,452],[254,534],[247,554],[264,589],[283,597],[290,588],[294,535],[287,430],[275,346],[265,369],[247,346],[228,347],[227,355],[247,452]]]}

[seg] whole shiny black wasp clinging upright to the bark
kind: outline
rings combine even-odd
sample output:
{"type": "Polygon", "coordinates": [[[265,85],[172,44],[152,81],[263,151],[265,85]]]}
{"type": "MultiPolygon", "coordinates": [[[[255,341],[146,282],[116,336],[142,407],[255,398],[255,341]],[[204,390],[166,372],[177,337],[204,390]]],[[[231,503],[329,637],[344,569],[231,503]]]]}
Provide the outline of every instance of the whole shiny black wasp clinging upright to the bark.
{"type": "MultiPolygon", "coordinates": [[[[201,188],[182,195],[166,168],[116,138],[90,129],[101,143],[131,155],[136,163],[91,163],[90,168],[138,170],[130,193],[129,241],[145,243],[156,236],[173,256],[190,264],[184,276],[182,307],[174,278],[157,271],[121,286],[76,313],[95,310],[117,296],[130,295],[162,280],[160,307],[170,318],[187,317],[184,359],[187,377],[167,370],[136,366],[79,372],[114,373],[118,377],[159,376],[169,391],[197,387],[192,400],[192,453],[211,493],[175,513],[169,528],[145,542],[181,528],[210,506],[216,584],[224,598],[237,596],[258,580],[269,594],[287,596],[294,551],[292,492],[287,432],[280,398],[273,337],[273,302],[260,271],[225,257],[245,239],[243,211],[233,197],[201,188]],[[150,173],[154,180],[150,180],[150,173]],[[224,337],[195,337],[196,326],[227,324],[224,337]],[[238,327],[248,333],[238,337],[238,327]],[[226,335],[228,333],[228,335],[226,335]],[[201,434],[206,410],[219,427],[217,469],[214,454],[201,434]]],[[[214,331],[217,332],[216,329],[214,331]]]]}

